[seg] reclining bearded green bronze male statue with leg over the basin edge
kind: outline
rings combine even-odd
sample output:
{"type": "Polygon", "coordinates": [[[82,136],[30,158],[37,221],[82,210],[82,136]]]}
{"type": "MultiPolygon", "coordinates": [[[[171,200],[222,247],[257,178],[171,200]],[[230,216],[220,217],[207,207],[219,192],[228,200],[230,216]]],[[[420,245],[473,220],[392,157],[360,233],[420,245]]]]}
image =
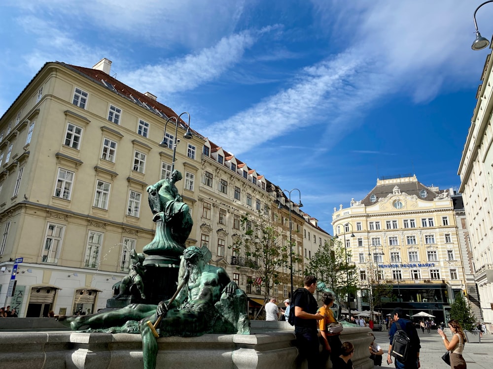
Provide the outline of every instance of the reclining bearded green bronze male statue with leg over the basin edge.
{"type": "Polygon", "coordinates": [[[185,281],[170,304],[132,304],[118,310],[94,315],[60,317],[72,330],[141,333],[144,369],[156,367],[157,340],[147,324],[156,325],[161,337],[195,337],[205,333],[248,335],[250,322],[246,313],[244,291],[231,281],[224,269],[209,265],[207,247],[191,246],[180,258],[178,281],[185,281]],[[121,326],[118,328],[111,328],[121,326]]]}

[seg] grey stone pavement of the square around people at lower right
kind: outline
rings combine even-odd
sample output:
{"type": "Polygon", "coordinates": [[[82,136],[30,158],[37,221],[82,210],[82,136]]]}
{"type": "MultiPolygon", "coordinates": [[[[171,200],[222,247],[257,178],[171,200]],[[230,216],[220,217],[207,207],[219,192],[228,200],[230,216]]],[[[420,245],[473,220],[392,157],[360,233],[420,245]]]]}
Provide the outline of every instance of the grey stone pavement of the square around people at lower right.
{"type": "MultiPolygon", "coordinates": [[[[426,331],[422,333],[421,330],[418,331],[421,339],[421,369],[450,369],[450,366],[447,366],[442,360],[442,355],[445,354],[446,350],[443,340],[436,330],[432,330],[431,333],[426,333],[426,331]]],[[[389,343],[388,332],[373,332],[373,334],[375,335],[377,343],[382,346],[382,349],[385,352],[382,367],[375,368],[394,368],[394,363],[387,365],[386,362],[389,343]]],[[[452,337],[450,330],[445,330],[445,334],[447,335],[447,338],[452,337]]],[[[466,361],[467,369],[492,369],[493,335],[483,335],[481,343],[467,342],[462,356],[466,361]]]]}

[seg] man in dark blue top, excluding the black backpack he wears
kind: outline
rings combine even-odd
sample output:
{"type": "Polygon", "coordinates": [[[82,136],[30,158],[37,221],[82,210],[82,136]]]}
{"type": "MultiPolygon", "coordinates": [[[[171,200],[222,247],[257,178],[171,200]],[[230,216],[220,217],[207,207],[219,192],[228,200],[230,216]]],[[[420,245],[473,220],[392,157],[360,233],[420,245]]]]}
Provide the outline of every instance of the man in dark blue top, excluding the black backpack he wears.
{"type": "Polygon", "coordinates": [[[397,324],[401,329],[406,332],[407,336],[410,339],[411,346],[408,348],[408,357],[406,361],[400,361],[397,358],[395,359],[395,368],[398,369],[418,369],[420,367],[420,349],[421,349],[421,341],[418,337],[418,332],[416,331],[416,327],[411,321],[404,318],[404,310],[402,307],[396,307],[393,311],[393,323],[388,331],[388,336],[390,338],[390,344],[388,345],[388,354],[387,354],[387,363],[392,363],[392,357],[390,353],[392,352],[392,341],[394,339],[395,332],[397,332],[397,324]]]}

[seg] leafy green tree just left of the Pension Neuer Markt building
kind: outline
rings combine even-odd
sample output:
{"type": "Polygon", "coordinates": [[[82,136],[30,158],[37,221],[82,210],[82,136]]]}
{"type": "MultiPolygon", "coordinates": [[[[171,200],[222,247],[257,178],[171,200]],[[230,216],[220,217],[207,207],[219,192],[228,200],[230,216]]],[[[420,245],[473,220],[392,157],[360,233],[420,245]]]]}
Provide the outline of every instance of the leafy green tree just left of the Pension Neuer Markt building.
{"type": "Polygon", "coordinates": [[[334,291],[341,300],[348,293],[355,294],[357,276],[356,266],[349,263],[351,251],[345,250],[343,243],[337,239],[326,241],[309,260],[305,267],[305,276],[315,276],[334,291]]]}

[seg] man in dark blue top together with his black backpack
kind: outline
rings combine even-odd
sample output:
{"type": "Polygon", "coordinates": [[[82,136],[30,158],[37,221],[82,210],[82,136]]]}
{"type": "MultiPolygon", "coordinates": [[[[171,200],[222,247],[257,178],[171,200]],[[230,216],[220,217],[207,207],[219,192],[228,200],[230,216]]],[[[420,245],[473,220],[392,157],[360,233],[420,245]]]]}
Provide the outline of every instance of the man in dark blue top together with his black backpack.
{"type": "Polygon", "coordinates": [[[388,335],[390,345],[388,346],[387,364],[392,363],[391,356],[395,359],[395,368],[418,369],[420,364],[421,341],[414,324],[404,318],[404,310],[396,307],[392,311],[393,323],[388,335]]]}

